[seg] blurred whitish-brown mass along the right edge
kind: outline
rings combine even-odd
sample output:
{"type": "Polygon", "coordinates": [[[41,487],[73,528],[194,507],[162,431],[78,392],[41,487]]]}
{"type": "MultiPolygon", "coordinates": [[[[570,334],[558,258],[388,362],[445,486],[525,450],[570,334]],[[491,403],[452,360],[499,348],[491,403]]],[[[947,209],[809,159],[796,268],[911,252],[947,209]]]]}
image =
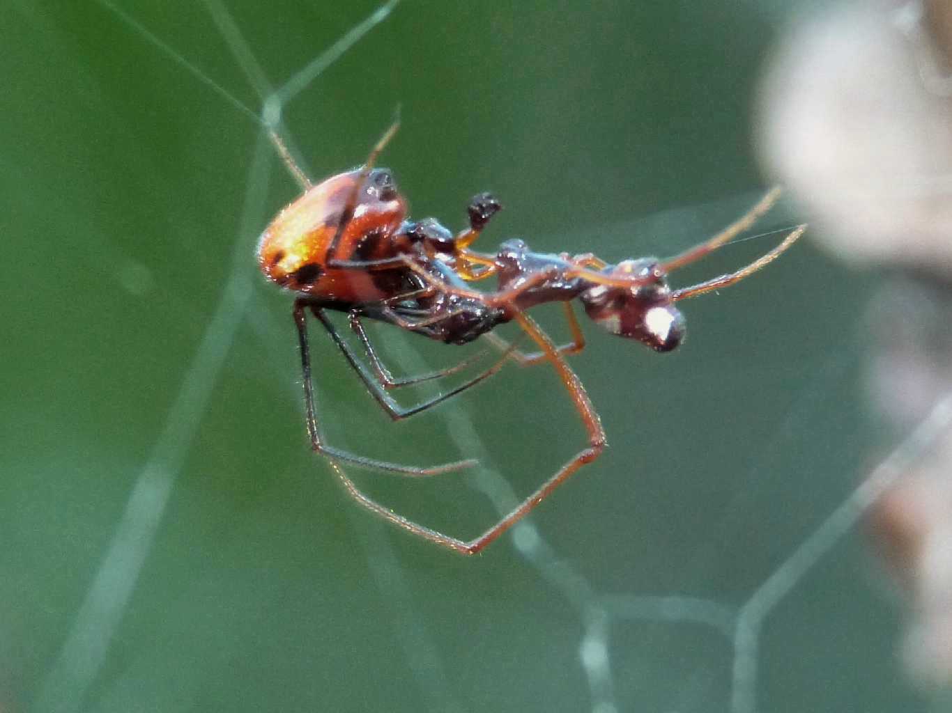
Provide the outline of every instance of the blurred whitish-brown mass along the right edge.
{"type": "MultiPolygon", "coordinates": [[[[887,268],[866,322],[869,391],[908,431],[952,392],[952,3],[854,3],[793,29],[765,77],[759,141],[814,237],[887,268]]],[[[909,669],[952,684],[952,434],[870,524],[909,595],[909,669]]]]}

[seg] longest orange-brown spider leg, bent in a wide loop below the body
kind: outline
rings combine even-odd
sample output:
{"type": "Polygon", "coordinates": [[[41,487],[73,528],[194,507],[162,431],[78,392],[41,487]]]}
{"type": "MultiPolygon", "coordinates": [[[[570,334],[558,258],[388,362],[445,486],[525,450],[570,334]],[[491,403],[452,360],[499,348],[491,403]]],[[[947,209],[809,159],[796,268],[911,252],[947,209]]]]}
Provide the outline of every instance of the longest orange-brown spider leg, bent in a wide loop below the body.
{"type": "Polygon", "coordinates": [[[595,460],[605,450],[605,429],[602,427],[602,421],[596,413],[594,406],[592,406],[588,395],[585,394],[585,387],[582,386],[579,377],[575,376],[575,372],[571,370],[565,362],[565,359],[559,354],[555,344],[552,343],[552,340],[545,335],[542,328],[539,327],[532,318],[522,312],[517,313],[515,318],[526,331],[526,334],[539,345],[545,353],[547,360],[551,361],[555,367],[559,378],[562,380],[572,402],[575,404],[576,410],[582,417],[582,422],[585,424],[585,431],[588,434],[587,448],[576,453],[562,468],[549,477],[538,490],[526,497],[515,510],[509,512],[506,517],[486,530],[479,537],[468,541],[451,537],[437,530],[431,530],[430,528],[407,519],[403,515],[398,515],[396,512],[390,511],[387,507],[367,496],[363,491],[360,491],[354,482],[347,477],[347,473],[344,472],[340,464],[331,459],[330,464],[334,472],[337,473],[337,477],[341,480],[347,493],[354,500],[367,508],[368,511],[373,512],[398,528],[407,530],[407,532],[422,537],[429,542],[441,545],[447,549],[453,549],[461,554],[476,554],[495,541],[501,534],[506,532],[506,530],[522,520],[526,514],[545,500],[545,497],[548,496],[549,493],[565,483],[565,481],[574,472],[582,468],[582,466],[595,460]]]}

